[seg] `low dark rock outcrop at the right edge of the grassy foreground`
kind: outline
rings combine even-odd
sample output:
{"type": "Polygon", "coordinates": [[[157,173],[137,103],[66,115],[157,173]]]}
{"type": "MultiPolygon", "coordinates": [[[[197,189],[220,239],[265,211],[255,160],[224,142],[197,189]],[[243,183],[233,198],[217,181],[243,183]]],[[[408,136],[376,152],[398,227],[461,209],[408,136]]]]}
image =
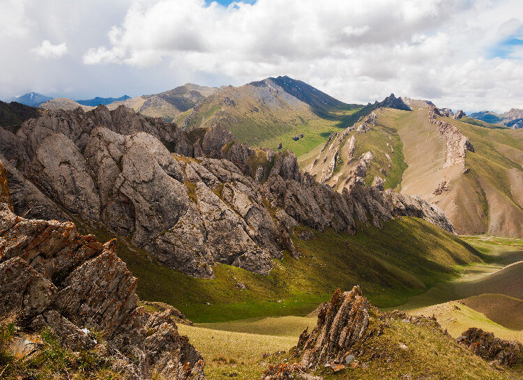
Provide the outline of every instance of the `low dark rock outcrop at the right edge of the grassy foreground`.
{"type": "Polygon", "coordinates": [[[499,365],[513,367],[523,363],[523,344],[515,340],[501,340],[480,328],[471,327],[456,342],[473,351],[474,354],[492,360],[499,365]]]}

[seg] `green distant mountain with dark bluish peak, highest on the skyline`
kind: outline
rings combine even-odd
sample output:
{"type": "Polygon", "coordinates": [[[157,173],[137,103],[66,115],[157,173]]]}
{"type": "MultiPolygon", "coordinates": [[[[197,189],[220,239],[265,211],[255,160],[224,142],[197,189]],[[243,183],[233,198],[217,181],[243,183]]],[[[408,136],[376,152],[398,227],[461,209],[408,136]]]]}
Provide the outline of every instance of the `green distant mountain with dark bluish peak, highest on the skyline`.
{"type": "Polygon", "coordinates": [[[342,128],[344,117],[363,106],[347,105],[289,77],[269,77],[213,93],[176,122],[183,128],[220,124],[239,142],[277,149],[280,143],[300,155],[342,128]],[[303,136],[302,136],[303,135],[303,136]]]}

